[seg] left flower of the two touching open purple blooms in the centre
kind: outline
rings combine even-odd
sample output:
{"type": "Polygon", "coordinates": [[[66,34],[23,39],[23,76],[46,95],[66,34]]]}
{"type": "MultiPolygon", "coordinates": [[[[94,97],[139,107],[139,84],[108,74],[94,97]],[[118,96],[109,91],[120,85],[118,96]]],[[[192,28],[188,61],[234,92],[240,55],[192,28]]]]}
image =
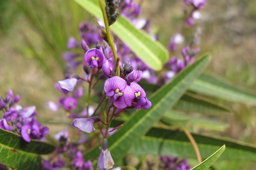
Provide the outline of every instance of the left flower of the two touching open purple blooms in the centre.
{"type": "Polygon", "coordinates": [[[119,109],[127,107],[124,102],[124,89],[127,83],[124,79],[114,76],[105,81],[104,91],[106,96],[110,98],[114,104],[119,109]]]}

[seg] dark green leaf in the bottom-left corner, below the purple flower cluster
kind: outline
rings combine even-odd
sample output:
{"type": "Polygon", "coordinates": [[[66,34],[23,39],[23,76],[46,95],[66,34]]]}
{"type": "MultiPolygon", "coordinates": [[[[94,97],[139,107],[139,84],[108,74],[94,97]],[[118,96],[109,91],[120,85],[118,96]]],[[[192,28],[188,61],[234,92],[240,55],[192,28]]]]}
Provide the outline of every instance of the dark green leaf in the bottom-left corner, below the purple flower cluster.
{"type": "Polygon", "coordinates": [[[55,149],[47,142],[24,141],[20,135],[0,128],[0,163],[19,170],[41,169],[42,158],[55,149]],[[4,155],[4,156],[3,156],[4,155]]]}

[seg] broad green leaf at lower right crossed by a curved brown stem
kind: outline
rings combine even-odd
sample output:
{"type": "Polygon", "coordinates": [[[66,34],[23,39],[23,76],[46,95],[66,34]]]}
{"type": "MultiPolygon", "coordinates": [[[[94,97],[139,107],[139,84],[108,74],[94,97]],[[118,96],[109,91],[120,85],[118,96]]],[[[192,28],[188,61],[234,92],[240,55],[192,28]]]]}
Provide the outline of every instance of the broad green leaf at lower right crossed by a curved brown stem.
{"type": "MultiPolygon", "coordinates": [[[[222,159],[256,160],[256,146],[233,139],[214,135],[192,133],[203,159],[211,155],[220,146],[226,145],[222,159]]],[[[137,155],[168,155],[181,158],[196,158],[195,150],[185,133],[178,130],[152,128],[129,150],[137,155]],[[161,132],[161,133],[159,133],[161,132]]]]}

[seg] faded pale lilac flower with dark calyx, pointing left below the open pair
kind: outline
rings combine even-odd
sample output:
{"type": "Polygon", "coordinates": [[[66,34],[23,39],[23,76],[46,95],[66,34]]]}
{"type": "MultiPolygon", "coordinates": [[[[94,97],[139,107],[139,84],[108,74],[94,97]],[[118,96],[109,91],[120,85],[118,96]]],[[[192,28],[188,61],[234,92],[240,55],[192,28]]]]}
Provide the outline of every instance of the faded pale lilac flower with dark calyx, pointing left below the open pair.
{"type": "Polygon", "coordinates": [[[98,121],[100,121],[100,117],[98,116],[93,116],[90,118],[77,118],[74,119],[71,125],[86,133],[92,133],[93,131],[95,131],[93,124],[98,121]]]}

